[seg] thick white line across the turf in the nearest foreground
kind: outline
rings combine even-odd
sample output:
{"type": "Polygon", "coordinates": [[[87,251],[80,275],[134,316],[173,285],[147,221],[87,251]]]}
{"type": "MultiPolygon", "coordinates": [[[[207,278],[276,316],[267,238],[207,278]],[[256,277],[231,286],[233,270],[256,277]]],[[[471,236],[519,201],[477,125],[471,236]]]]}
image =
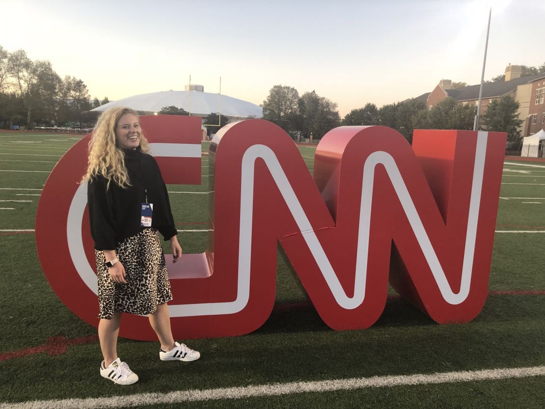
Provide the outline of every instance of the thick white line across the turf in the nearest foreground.
{"type": "Polygon", "coordinates": [[[0,409],[95,409],[176,404],[181,402],[220,399],[258,398],[299,393],[322,393],[336,390],[392,388],[453,382],[490,381],[545,375],[545,366],[526,368],[484,369],[479,371],[436,372],[435,374],[385,375],[326,381],[269,383],[231,388],[189,389],[175,392],[136,393],[133,395],[104,396],[101,398],[73,398],[62,400],[35,400],[16,404],[0,404],[0,409]]]}

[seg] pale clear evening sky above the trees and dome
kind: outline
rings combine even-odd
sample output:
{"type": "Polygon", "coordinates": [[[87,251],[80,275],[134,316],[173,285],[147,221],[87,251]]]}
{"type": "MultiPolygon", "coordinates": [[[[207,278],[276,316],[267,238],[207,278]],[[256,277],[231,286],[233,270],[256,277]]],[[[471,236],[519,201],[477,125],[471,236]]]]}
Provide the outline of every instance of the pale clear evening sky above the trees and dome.
{"type": "Polygon", "coordinates": [[[110,100],[191,83],[262,104],[274,85],[350,110],[545,63],[544,0],[1,0],[0,45],[110,100]]]}

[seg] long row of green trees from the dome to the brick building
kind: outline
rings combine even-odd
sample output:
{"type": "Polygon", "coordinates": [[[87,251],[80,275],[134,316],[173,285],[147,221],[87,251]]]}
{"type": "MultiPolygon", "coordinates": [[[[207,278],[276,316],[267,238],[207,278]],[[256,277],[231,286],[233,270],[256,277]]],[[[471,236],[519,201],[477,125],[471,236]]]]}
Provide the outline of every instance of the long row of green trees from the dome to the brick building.
{"type": "MultiPolygon", "coordinates": [[[[459,86],[465,86],[465,83],[459,86]]],[[[339,125],[384,125],[396,129],[409,142],[414,129],[460,129],[471,130],[476,115],[475,105],[457,104],[453,98],[445,98],[431,109],[417,99],[407,99],[380,108],[373,103],[350,111],[341,121],[337,104],[320,97],[316,92],[299,92],[289,86],[275,85],[261,105],[263,119],[274,122],[287,133],[300,131],[305,137],[310,133],[319,139],[339,125]]],[[[508,141],[520,141],[518,127],[519,104],[512,97],[494,99],[482,117],[489,131],[506,131],[508,141]]]]}

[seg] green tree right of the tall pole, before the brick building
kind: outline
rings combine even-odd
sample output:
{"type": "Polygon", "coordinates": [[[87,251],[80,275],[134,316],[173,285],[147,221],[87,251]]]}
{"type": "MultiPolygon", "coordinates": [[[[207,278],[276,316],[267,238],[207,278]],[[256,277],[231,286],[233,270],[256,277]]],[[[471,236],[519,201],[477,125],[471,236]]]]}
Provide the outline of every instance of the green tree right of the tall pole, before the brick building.
{"type": "Polygon", "coordinates": [[[482,117],[487,130],[507,132],[508,142],[519,142],[519,127],[523,121],[518,119],[518,108],[519,103],[508,95],[492,100],[482,117]]]}

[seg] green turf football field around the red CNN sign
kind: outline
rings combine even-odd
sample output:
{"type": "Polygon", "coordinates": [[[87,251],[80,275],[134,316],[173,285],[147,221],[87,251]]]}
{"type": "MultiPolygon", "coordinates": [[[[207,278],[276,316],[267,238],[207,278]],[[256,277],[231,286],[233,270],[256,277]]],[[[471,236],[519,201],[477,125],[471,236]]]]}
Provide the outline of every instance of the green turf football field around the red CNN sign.
{"type": "MultiPolygon", "coordinates": [[[[70,398],[81,400],[52,402],[50,407],[545,407],[543,375],[380,383],[387,376],[473,374],[545,365],[545,163],[513,160],[507,160],[514,164],[504,166],[502,178],[489,284],[492,293],[481,314],[468,324],[435,324],[404,300],[392,297],[371,328],[336,332],[306,304],[298,279],[279,254],[276,308],[269,320],[249,335],[188,341],[201,351],[202,358],[196,362],[161,362],[158,343],[120,339],[119,356],[140,377],[136,384],[122,387],[100,377],[102,358],[96,340],[54,354],[32,350],[36,353],[8,357],[7,353],[44,346],[51,337],[71,340],[96,334],[47,284],[34,234],[8,231],[34,229],[48,172],[80,139],[78,135],[0,132],[0,357],[4,357],[0,360],[0,409],[47,407],[43,400],[70,398]],[[541,167],[523,166],[528,164],[541,167]],[[353,378],[378,383],[337,389],[328,383],[353,378]],[[293,386],[297,382],[311,384],[306,389],[310,392],[293,386]],[[265,392],[256,392],[257,386],[265,386],[265,392]],[[211,397],[206,398],[208,390],[211,397]],[[150,393],[156,395],[145,395],[150,393]],[[164,398],[168,393],[171,403],[164,398]],[[17,405],[33,400],[38,400],[34,406],[17,405]]],[[[203,152],[207,149],[204,143],[203,152]]],[[[315,148],[299,149],[312,171],[315,148]]],[[[205,155],[202,164],[206,175],[205,155]]],[[[168,190],[207,192],[207,177],[200,186],[169,185],[168,190]]],[[[170,200],[180,230],[203,230],[179,234],[184,251],[204,251],[207,235],[200,223],[207,221],[207,195],[171,193],[170,200]]]]}

